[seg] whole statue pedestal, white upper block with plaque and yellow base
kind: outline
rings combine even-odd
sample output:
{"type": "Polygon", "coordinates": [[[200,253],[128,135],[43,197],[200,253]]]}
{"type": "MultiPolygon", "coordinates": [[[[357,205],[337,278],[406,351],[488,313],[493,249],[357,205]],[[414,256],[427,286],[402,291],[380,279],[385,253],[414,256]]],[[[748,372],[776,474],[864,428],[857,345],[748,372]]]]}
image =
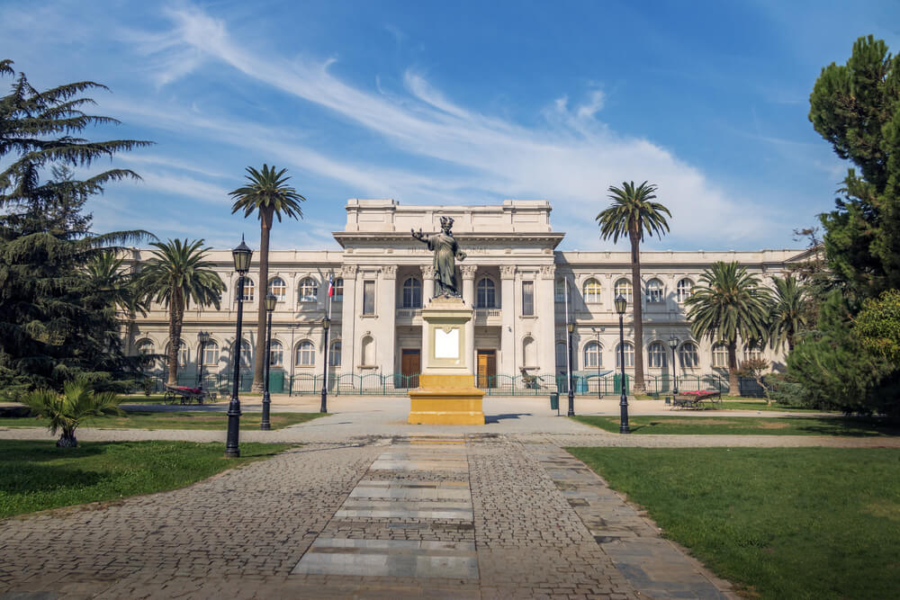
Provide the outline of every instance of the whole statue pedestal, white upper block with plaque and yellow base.
{"type": "Polygon", "coordinates": [[[425,345],[419,388],[410,390],[413,425],[484,425],[482,396],[466,354],[472,307],[459,298],[435,298],[422,309],[425,345]]]}

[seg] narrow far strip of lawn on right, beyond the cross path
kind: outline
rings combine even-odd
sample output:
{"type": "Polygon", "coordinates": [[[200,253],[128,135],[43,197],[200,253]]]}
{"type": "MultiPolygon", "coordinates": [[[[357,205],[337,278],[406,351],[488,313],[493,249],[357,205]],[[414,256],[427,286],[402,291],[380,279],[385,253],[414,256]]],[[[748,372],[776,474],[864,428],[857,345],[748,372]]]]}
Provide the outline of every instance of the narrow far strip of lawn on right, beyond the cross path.
{"type": "MultiPolygon", "coordinates": [[[[618,416],[572,418],[585,425],[618,433],[618,416]]],[[[715,416],[684,411],[678,416],[631,416],[628,425],[633,434],[900,435],[900,426],[896,423],[877,417],[856,416],[715,416]]]]}

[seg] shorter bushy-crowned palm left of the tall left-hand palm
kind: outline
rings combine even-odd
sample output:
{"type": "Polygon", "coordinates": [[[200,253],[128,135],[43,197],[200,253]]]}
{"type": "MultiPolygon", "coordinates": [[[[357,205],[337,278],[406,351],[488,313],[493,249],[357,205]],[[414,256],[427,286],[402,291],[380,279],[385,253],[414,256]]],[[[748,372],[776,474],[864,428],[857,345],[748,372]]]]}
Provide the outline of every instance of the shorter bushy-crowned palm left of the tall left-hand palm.
{"type": "MultiPolygon", "coordinates": [[[[153,251],[139,273],[139,298],[154,300],[169,310],[168,385],[178,385],[178,346],[184,309],[191,308],[191,300],[200,306],[219,309],[221,293],[225,290],[219,273],[204,261],[210,248],[203,248],[203,240],[168,240],[154,242],[153,251]]],[[[240,293],[238,291],[238,293],[240,293]]]]}

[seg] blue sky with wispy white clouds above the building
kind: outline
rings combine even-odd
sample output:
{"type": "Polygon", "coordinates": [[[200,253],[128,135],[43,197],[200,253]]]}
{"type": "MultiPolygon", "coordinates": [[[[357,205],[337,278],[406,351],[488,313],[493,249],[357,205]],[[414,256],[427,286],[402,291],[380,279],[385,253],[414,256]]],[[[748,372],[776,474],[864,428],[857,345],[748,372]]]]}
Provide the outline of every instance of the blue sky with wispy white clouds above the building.
{"type": "Polygon", "coordinates": [[[347,198],[540,198],[561,249],[612,249],[608,186],[649,180],[671,233],[644,247],[749,250],[798,246],[833,206],[847,165],[806,117],[821,68],[869,33],[900,50],[900,4],[848,6],[7,0],[0,56],[39,87],[108,85],[96,112],[122,124],[95,139],[157,142],[114,159],[143,181],[92,199],[97,230],[255,245],[228,192],[268,163],[308,199],[275,248],[336,248],[347,198]]]}

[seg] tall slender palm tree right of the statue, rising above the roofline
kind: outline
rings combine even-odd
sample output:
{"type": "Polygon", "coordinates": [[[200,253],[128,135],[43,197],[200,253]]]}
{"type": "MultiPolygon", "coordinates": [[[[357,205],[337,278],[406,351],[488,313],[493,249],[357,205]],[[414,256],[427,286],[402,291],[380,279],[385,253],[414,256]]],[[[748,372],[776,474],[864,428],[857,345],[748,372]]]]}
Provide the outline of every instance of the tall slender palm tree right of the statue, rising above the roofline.
{"type": "Polygon", "coordinates": [[[669,215],[671,212],[659,202],[653,202],[656,198],[656,185],[643,184],[635,187],[635,182],[622,182],[622,187],[610,185],[609,199],[613,203],[607,210],[597,215],[600,227],[600,237],[613,238],[613,243],[619,237],[627,237],[631,242],[631,282],[634,291],[632,309],[635,321],[635,387],[634,393],[644,393],[644,315],[641,306],[641,242],[644,235],[654,234],[662,238],[664,231],[669,231],[669,222],[662,213],[669,215]]]}

